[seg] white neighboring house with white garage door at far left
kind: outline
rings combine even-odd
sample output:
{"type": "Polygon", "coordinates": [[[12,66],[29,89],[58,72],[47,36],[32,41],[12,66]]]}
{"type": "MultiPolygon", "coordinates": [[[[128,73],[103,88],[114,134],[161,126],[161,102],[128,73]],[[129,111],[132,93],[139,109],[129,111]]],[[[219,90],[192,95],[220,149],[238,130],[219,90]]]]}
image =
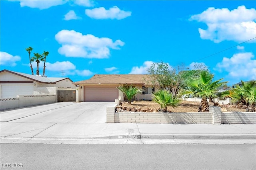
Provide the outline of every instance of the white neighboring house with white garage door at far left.
{"type": "MultiPolygon", "coordinates": [[[[1,70],[0,72],[1,98],[15,98],[17,95],[56,95],[58,102],[64,99],[67,93],[75,94],[76,86],[72,84],[70,78],[64,77],[46,77],[25,74],[10,70],[1,70]],[[58,93],[59,92],[59,93],[58,93]],[[66,92],[62,94],[62,92],[66,92]]],[[[76,97],[68,99],[75,101],[76,97]]]]}

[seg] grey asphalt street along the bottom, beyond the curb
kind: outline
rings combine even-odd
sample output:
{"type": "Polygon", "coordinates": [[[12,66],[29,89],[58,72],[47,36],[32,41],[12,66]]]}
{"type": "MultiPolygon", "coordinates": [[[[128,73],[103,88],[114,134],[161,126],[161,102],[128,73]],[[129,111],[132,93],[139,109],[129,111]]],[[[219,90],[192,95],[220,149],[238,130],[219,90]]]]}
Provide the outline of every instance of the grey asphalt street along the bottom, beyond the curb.
{"type": "Polygon", "coordinates": [[[256,169],[256,145],[1,144],[1,169],[256,169]],[[18,168],[15,166],[21,166],[18,168]],[[8,167],[10,166],[10,167],[8,167]]]}

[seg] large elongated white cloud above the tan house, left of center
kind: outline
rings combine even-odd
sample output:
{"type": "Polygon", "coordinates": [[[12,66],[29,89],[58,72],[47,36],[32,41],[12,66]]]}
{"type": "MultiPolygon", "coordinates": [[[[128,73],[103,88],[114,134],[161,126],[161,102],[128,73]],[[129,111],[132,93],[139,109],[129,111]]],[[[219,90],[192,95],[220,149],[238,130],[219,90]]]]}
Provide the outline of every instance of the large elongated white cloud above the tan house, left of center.
{"type": "Polygon", "coordinates": [[[112,41],[106,37],[63,29],[55,35],[56,41],[62,45],[58,52],[66,57],[84,57],[103,59],[110,56],[110,49],[120,49],[124,45],[121,40],[112,41]]]}

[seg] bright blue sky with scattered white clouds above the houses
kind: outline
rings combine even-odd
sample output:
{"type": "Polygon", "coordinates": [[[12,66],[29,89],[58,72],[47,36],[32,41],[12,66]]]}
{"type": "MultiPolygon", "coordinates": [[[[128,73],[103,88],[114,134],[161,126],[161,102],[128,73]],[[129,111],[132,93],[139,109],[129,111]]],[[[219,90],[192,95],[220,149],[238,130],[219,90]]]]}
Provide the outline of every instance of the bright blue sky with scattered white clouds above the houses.
{"type": "Polygon", "coordinates": [[[31,46],[33,53],[49,52],[48,77],[74,82],[146,74],[161,61],[170,68],[203,64],[230,85],[256,79],[254,1],[4,0],[0,6],[1,70],[31,74],[25,50],[31,46]]]}

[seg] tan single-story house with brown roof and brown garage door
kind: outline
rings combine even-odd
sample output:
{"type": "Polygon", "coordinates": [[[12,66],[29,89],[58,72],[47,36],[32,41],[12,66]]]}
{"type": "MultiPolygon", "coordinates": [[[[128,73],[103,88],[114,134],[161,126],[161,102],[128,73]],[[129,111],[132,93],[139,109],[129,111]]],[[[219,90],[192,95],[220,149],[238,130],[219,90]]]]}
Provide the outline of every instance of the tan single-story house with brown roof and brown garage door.
{"type": "Polygon", "coordinates": [[[124,94],[116,87],[128,85],[143,88],[145,92],[137,94],[135,100],[152,100],[154,88],[144,82],[145,74],[95,74],[88,80],[74,82],[79,86],[77,102],[114,102],[124,94]]]}

